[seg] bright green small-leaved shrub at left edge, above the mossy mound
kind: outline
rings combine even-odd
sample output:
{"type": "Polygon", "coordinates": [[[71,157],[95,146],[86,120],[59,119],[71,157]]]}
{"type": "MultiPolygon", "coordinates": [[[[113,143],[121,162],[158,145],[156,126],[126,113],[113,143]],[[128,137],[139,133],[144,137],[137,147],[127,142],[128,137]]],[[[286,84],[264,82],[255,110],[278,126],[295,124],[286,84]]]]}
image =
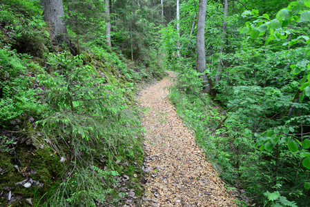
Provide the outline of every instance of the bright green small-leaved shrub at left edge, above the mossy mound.
{"type": "Polygon", "coordinates": [[[37,104],[38,90],[30,86],[28,55],[19,55],[9,47],[0,49],[0,119],[8,121],[21,114],[38,114],[44,106],[37,104]]]}

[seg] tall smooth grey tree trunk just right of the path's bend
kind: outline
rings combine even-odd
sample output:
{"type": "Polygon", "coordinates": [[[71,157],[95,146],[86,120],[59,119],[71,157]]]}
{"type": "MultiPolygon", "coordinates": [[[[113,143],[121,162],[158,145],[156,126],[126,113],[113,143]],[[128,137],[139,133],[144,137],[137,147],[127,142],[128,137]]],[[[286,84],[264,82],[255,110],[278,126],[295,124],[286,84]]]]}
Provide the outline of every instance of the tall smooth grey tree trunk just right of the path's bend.
{"type": "Polygon", "coordinates": [[[211,93],[211,80],[206,77],[206,48],[204,44],[204,23],[206,21],[207,0],[199,1],[198,20],[197,20],[197,72],[202,73],[204,89],[211,93]]]}

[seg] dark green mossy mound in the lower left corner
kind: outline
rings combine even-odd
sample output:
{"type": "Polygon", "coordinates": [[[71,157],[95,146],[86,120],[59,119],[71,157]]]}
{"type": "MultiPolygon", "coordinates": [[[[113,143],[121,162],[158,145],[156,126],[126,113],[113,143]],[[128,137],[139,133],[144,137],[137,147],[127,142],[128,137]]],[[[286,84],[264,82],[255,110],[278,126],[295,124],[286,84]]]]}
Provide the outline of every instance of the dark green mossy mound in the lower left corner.
{"type": "MultiPolygon", "coordinates": [[[[59,161],[60,157],[58,155],[54,155],[54,150],[48,146],[35,149],[33,146],[20,144],[17,148],[15,148],[15,152],[16,155],[10,155],[8,152],[0,153],[0,166],[3,169],[8,169],[6,173],[0,176],[0,189],[8,186],[12,188],[12,193],[14,193],[14,195],[22,195],[23,200],[21,201],[21,204],[17,201],[17,206],[29,206],[25,202],[27,198],[32,198],[32,203],[35,205],[39,202],[39,199],[41,199],[43,195],[45,195],[54,186],[60,184],[60,178],[64,173],[65,166],[59,161]],[[50,156],[51,154],[53,156],[50,156]],[[28,175],[24,174],[23,176],[21,172],[18,172],[12,167],[13,164],[17,164],[20,171],[28,168],[29,170],[36,170],[37,172],[35,175],[30,175],[28,173],[28,175]],[[44,184],[43,188],[35,188],[33,186],[30,188],[25,188],[23,186],[14,185],[15,183],[23,181],[23,179],[28,177],[44,184]]],[[[43,197],[41,201],[44,201],[47,198],[47,196],[43,197]]],[[[4,200],[0,200],[0,203],[1,202],[4,204],[4,200]]]]}

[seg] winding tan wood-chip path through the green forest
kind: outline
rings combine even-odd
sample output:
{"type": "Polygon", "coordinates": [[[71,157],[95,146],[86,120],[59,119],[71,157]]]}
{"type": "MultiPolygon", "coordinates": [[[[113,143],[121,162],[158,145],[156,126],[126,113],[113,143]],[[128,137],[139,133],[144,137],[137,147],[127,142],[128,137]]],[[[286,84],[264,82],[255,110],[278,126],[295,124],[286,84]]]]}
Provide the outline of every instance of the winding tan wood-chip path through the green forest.
{"type": "Polygon", "coordinates": [[[164,78],[140,92],[140,105],[148,109],[142,119],[148,172],[142,206],[236,206],[168,100],[172,83],[164,78]]]}

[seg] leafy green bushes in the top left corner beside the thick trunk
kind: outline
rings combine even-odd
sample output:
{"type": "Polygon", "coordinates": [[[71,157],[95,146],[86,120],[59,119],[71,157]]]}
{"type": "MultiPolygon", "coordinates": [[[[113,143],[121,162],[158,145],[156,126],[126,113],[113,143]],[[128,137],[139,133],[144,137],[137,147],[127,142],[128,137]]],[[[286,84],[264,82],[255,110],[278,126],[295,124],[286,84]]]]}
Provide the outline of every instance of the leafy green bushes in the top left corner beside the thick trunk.
{"type": "Polygon", "coordinates": [[[47,50],[48,30],[39,1],[3,1],[0,5],[0,23],[14,37],[14,48],[41,57],[47,50]]]}

